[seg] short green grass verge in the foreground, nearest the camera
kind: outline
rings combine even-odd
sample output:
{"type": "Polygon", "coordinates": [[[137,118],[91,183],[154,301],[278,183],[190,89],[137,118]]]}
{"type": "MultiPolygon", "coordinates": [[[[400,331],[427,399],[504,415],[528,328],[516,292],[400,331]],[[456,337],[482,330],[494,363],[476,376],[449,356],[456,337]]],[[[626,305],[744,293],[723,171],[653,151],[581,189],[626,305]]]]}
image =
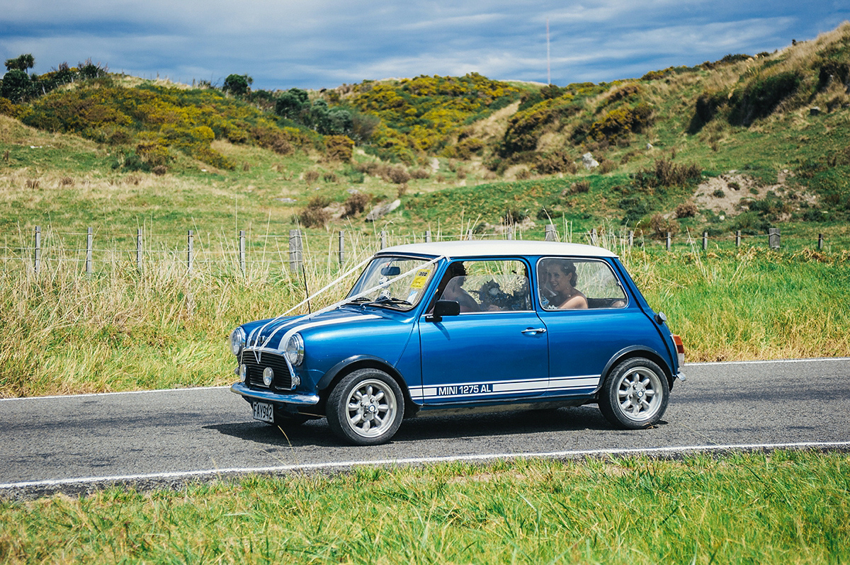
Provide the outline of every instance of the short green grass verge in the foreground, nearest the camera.
{"type": "Polygon", "coordinates": [[[363,467],[0,501],[0,561],[822,563],[850,458],[778,451],[363,467]]]}

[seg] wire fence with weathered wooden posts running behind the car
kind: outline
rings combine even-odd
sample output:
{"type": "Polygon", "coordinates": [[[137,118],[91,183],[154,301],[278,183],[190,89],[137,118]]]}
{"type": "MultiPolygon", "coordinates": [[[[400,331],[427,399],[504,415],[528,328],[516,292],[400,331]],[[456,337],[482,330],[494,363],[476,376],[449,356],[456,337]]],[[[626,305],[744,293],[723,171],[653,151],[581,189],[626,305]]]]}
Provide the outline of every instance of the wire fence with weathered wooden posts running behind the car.
{"type": "Polygon", "coordinates": [[[553,224],[546,226],[543,234],[529,233],[515,227],[503,231],[476,234],[472,230],[463,233],[443,231],[422,233],[400,233],[381,231],[374,234],[336,231],[322,234],[307,234],[301,229],[290,229],[288,234],[246,234],[241,230],[235,237],[223,234],[196,233],[188,230],[184,234],[161,234],[154,230],[137,229],[136,233],[102,233],[93,228],[85,232],[69,232],[41,229],[37,226],[30,233],[20,233],[13,242],[9,237],[0,246],[0,268],[3,271],[26,268],[38,273],[48,265],[77,268],[82,273],[95,274],[116,268],[183,268],[186,273],[206,271],[210,273],[245,274],[252,269],[266,271],[279,268],[281,272],[297,272],[305,263],[324,264],[326,267],[342,267],[346,263],[357,263],[375,251],[388,246],[407,243],[448,240],[553,240],[587,243],[604,246],[612,251],[625,252],[633,247],[676,251],[709,251],[711,249],[734,249],[740,246],[762,246],[774,250],[799,250],[803,248],[819,251],[850,248],[850,237],[824,234],[812,238],[783,237],[779,229],[769,229],[767,234],[723,234],[701,235],[667,233],[660,239],[649,239],[632,230],[610,229],[598,232],[574,233],[565,225],[562,232],[553,224]],[[542,235],[542,237],[541,237],[542,235]]]}

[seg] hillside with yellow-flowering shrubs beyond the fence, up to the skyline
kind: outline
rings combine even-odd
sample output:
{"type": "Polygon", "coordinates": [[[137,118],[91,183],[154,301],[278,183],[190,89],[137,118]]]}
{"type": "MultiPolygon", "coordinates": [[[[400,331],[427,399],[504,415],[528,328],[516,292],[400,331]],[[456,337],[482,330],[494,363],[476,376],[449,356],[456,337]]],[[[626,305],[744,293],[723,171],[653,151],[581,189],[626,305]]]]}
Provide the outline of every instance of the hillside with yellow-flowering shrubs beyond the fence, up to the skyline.
{"type": "Polygon", "coordinates": [[[365,81],[303,93],[300,113],[286,116],[272,111],[286,93],[238,98],[94,76],[18,104],[0,99],[14,118],[0,129],[0,184],[19,211],[0,223],[113,231],[162,220],[215,233],[261,222],[280,231],[300,216],[363,231],[493,234],[507,222],[536,234],[553,222],[576,234],[622,226],[717,240],[780,226],[842,242],[848,46],[842,25],[774,54],[609,84],[365,81]],[[353,147],[317,133],[316,112],[328,108],[377,126],[356,130],[365,138],[346,130],[353,147]],[[598,167],[582,166],[587,152],[598,167]],[[398,212],[365,222],[396,197],[398,212]],[[310,205],[324,211],[304,215],[310,205]]]}

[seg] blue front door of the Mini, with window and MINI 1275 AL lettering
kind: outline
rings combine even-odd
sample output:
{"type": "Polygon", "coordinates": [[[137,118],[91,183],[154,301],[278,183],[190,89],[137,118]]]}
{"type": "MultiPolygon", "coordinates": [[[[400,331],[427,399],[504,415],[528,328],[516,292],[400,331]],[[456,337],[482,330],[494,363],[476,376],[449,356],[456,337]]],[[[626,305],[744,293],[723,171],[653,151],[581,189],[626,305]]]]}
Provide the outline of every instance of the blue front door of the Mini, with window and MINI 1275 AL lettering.
{"type": "Polygon", "coordinates": [[[423,404],[504,402],[547,390],[547,333],[519,259],[455,261],[437,297],[461,314],[419,320],[423,404]]]}

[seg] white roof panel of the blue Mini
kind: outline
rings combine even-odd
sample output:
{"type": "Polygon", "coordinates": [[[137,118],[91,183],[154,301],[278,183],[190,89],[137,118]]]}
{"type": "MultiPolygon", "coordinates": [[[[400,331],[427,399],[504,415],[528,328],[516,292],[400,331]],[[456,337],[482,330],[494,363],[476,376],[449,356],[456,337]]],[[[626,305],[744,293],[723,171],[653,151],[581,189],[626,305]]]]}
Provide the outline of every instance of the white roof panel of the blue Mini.
{"type": "Polygon", "coordinates": [[[617,257],[616,253],[604,247],[586,246],[580,243],[531,240],[432,241],[430,243],[411,243],[405,246],[387,247],[379,253],[381,255],[415,253],[416,255],[431,255],[433,257],[493,257],[499,255],[617,257]]]}

